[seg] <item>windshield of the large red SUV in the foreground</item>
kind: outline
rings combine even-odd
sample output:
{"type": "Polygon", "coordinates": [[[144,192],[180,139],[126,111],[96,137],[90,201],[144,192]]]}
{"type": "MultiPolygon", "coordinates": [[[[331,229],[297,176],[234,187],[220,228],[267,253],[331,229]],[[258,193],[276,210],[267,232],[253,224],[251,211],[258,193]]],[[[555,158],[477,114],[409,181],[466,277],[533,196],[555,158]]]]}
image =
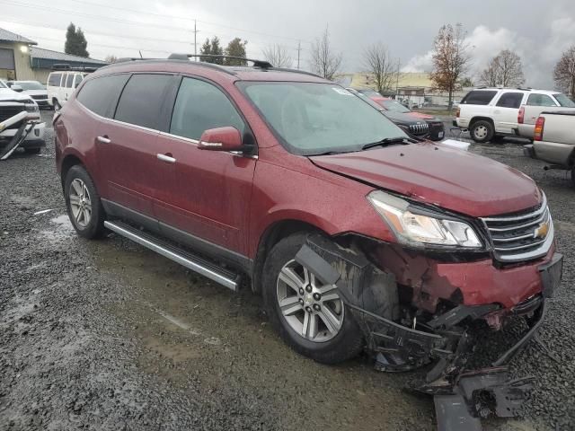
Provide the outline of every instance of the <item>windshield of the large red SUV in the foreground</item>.
{"type": "Polygon", "coordinates": [[[238,85],[294,154],[360,151],[363,145],[386,137],[407,137],[378,110],[339,85],[238,85]]]}

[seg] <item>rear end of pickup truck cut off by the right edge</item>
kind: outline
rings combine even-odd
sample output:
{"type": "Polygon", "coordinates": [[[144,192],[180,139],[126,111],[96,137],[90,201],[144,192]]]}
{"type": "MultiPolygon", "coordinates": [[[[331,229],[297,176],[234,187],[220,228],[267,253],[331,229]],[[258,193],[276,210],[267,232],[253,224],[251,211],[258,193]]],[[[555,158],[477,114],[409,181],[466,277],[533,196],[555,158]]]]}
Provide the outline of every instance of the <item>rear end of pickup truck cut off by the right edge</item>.
{"type": "Polygon", "coordinates": [[[550,163],[545,169],[571,171],[575,185],[575,110],[544,111],[535,122],[533,145],[524,154],[550,163]]]}

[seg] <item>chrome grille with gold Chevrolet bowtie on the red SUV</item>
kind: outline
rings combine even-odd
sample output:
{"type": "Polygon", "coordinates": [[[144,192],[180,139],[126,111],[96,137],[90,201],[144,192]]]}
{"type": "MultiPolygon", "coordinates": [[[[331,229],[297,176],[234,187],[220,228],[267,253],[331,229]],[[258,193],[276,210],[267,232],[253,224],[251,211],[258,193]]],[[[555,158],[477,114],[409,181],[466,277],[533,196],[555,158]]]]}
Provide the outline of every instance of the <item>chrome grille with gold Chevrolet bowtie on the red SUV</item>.
{"type": "Polygon", "coordinates": [[[490,233],[495,257],[504,262],[540,258],[553,243],[553,221],[546,198],[535,210],[482,221],[490,233]]]}

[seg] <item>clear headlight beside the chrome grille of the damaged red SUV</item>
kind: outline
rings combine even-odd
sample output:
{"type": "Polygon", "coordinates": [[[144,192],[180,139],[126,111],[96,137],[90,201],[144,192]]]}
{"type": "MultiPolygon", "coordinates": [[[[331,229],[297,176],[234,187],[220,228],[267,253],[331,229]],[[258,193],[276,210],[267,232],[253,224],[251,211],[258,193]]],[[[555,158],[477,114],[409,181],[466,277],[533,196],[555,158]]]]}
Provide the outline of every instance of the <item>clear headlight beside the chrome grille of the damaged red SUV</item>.
{"type": "Polygon", "coordinates": [[[464,222],[418,214],[410,209],[410,203],[381,190],[367,195],[367,200],[377,213],[389,224],[397,239],[411,245],[435,244],[481,248],[477,233],[464,222]]]}

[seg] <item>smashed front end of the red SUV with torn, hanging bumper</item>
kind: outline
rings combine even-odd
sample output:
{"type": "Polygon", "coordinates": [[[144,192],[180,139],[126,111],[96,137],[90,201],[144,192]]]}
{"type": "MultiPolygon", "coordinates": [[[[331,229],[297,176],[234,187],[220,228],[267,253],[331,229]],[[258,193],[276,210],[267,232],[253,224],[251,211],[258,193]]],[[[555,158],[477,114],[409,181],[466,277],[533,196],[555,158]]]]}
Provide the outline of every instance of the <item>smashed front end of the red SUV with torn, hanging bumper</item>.
{"type": "MultiPolygon", "coordinates": [[[[512,300],[498,300],[496,290],[483,292],[482,297],[474,295],[469,286],[473,273],[466,271],[489,277],[481,257],[465,266],[453,256],[430,259],[367,238],[350,235],[332,242],[315,234],[307,238],[296,260],[325,283],[338,286],[363,331],[376,369],[402,372],[429,365],[424,378],[411,383],[409,389],[434,396],[439,430],[475,430],[481,429],[479,418],[489,414],[515,416],[531,387],[529,378],[509,380],[505,365],[544,320],[545,298],[561,279],[562,256],[551,255],[533,269],[541,284],[527,284],[519,291],[516,283],[515,290],[511,289],[515,297],[527,295],[512,306],[512,300]],[[456,269],[463,276],[451,277],[450,271],[455,274],[456,269]],[[467,284],[456,286],[457,277],[467,279],[467,284]],[[500,330],[513,316],[526,321],[521,338],[491,364],[469,370],[477,344],[476,324],[500,330]]],[[[517,268],[509,271],[502,272],[509,280],[519,275],[517,268]]],[[[499,281],[506,283],[502,277],[499,281]]]]}

